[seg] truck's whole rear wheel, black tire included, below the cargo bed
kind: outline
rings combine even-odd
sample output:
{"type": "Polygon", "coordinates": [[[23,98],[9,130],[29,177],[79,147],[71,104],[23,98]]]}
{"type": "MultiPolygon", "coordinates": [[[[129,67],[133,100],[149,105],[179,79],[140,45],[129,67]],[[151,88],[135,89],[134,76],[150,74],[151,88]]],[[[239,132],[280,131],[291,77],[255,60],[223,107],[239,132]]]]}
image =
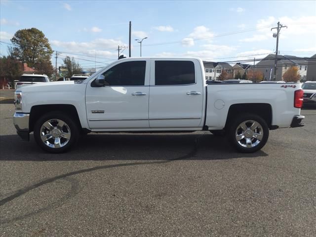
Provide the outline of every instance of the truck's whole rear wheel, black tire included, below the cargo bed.
{"type": "Polygon", "coordinates": [[[258,115],[238,115],[229,123],[228,138],[239,152],[253,153],[259,151],[267,143],[268,137],[269,126],[267,122],[258,115]],[[258,126],[256,127],[256,123],[253,122],[257,122],[258,126]],[[244,125],[240,126],[240,124],[244,125]],[[252,129],[251,124],[253,128],[256,128],[252,129]],[[237,139],[240,140],[238,141],[237,139]]]}

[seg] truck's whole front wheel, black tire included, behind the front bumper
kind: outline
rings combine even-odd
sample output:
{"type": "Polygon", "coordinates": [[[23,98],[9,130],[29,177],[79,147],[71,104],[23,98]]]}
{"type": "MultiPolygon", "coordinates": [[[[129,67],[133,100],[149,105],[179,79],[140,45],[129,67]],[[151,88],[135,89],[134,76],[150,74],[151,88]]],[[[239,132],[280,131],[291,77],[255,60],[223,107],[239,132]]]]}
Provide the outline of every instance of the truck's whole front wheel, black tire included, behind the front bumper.
{"type": "Polygon", "coordinates": [[[74,144],[76,144],[78,137],[78,125],[74,122],[74,118],[59,111],[43,115],[34,125],[35,141],[41,149],[49,153],[64,153],[68,151],[74,144]],[[44,126],[44,123],[48,121],[50,122],[49,124],[52,125],[51,128],[53,129],[48,129],[44,126]],[[62,127],[60,127],[59,124],[61,124],[62,127]],[[60,134],[60,136],[58,136],[58,134],[60,134]],[[69,139],[63,137],[64,135],[67,135],[67,137],[69,136],[69,139]],[[41,138],[43,136],[46,136],[47,138],[45,142],[41,138]]]}

